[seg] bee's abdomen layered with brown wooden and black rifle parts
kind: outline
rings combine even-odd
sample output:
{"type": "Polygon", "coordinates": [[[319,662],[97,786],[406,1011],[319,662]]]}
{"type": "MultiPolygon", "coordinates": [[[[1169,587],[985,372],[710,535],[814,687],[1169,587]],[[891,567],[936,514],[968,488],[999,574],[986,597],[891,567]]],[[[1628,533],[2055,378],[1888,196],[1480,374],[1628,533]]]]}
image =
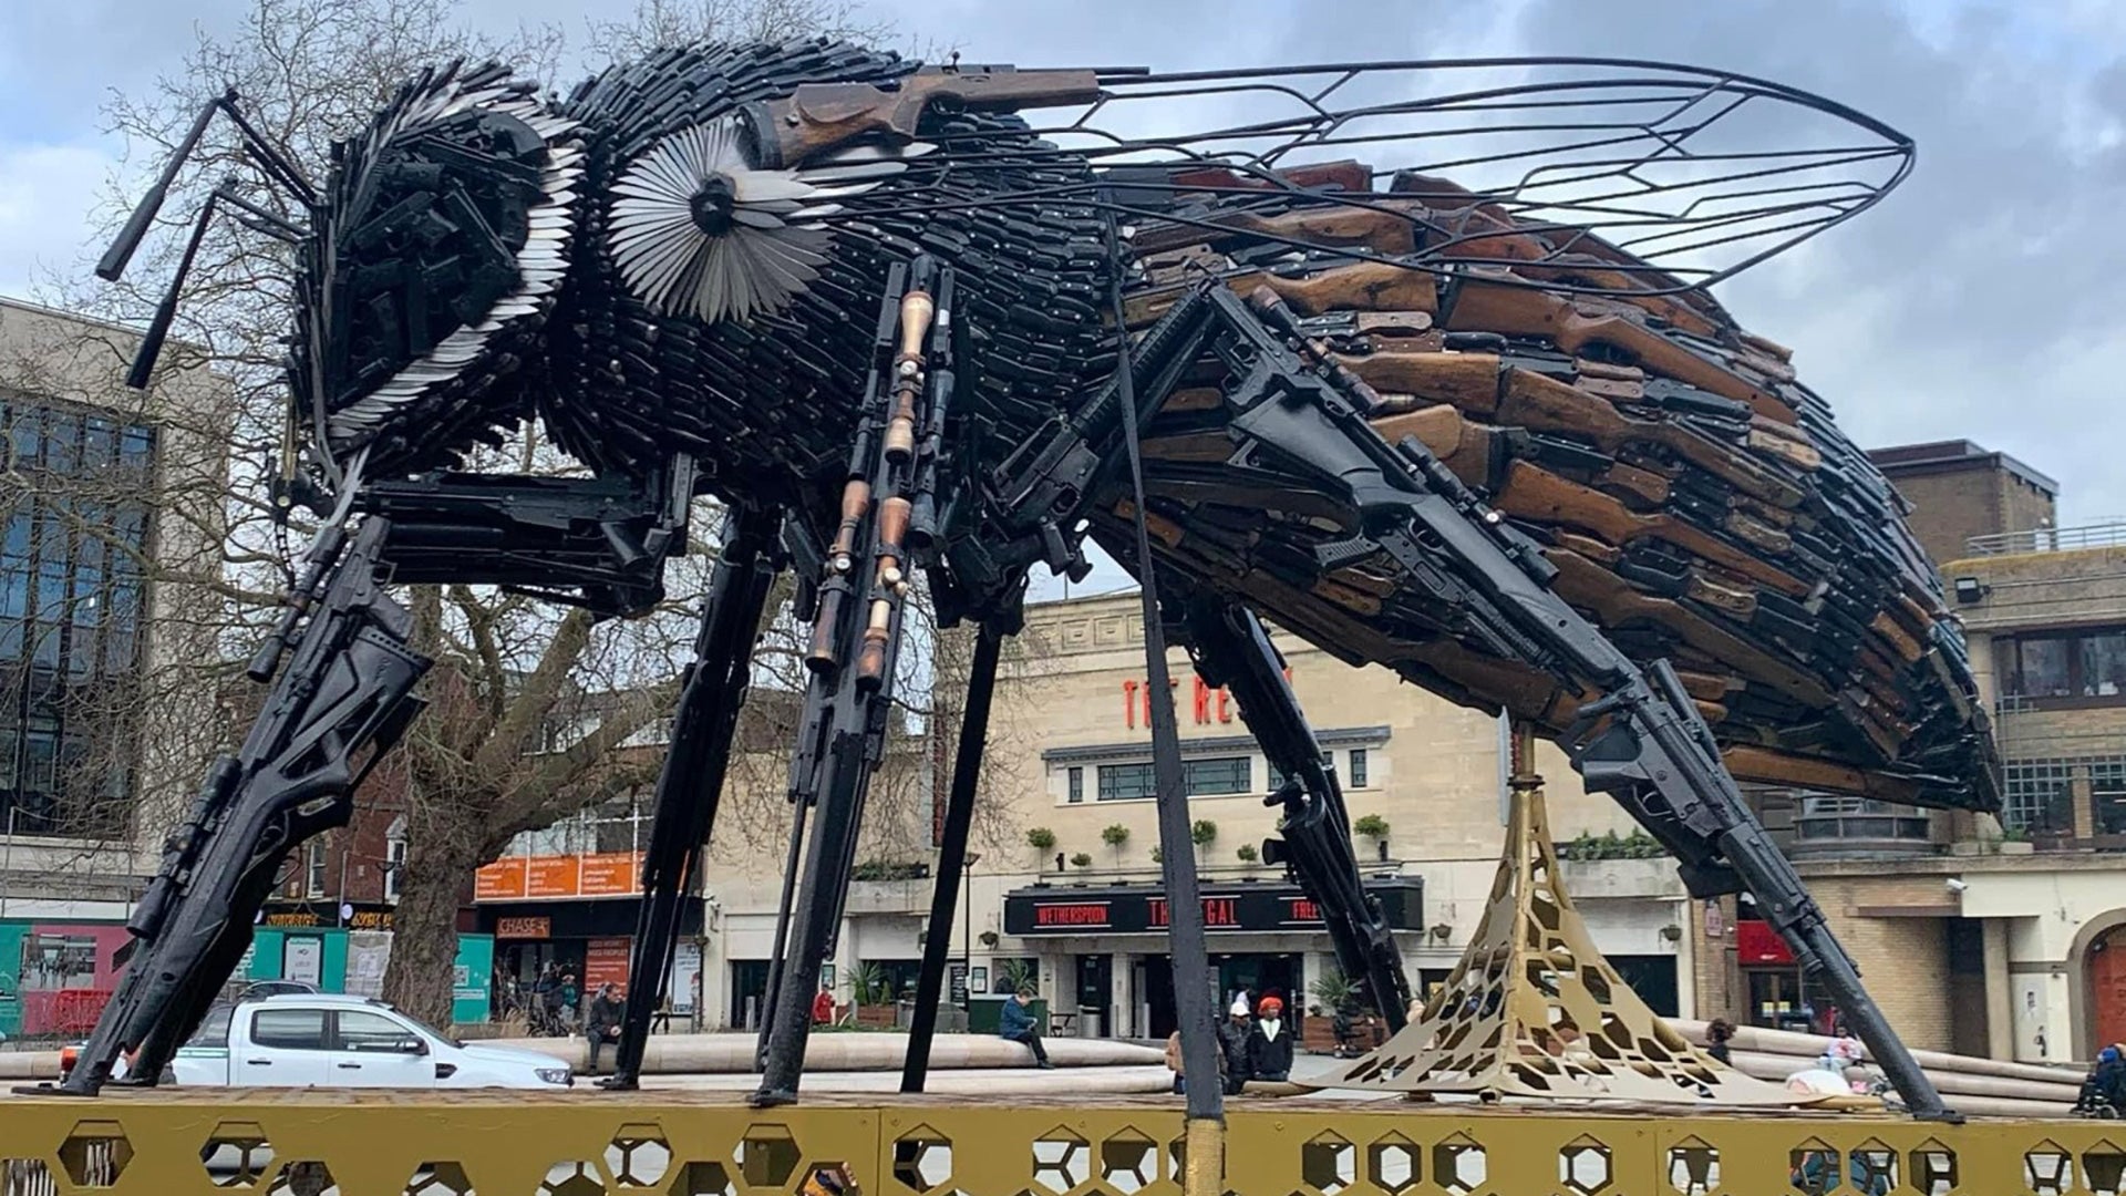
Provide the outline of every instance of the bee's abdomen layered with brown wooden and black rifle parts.
{"type": "MultiPolygon", "coordinates": [[[[1648,294],[1663,279],[1599,238],[1516,223],[1450,183],[1405,177],[1367,200],[1386,211],[1265,217],[1261,200],[1244,213],[1231,194],[1176,196],[1188,223],[1135,238],[1131,326],[1203,268],[1242,294],[1278,294],[1318,355],[1382,396],[1371,426],[1386,441],[1414,436],[1531,532],[1558,568],[1554,589],[1626,653],[1675,662],[1737,775],[1994,802],[1986,717],[1941,581],[1899,496],[1786,349],[1703,292],[1648,294]],[[1280,236],[1380,255],[1433,245],[1437,272],[1278,253],[1280,236]],[[1560,238],[1580,253],[1560,262],[1560,238]],[[1248,253],[1265,268],[1246,268],[1248,253]]],[[[1320,572],[1314,547],[1337,532],[1301,502],[1161,496],[1161,475],[1229,451],[1203,426],[1210,404],[1216,394],[1180,392],[1146,445],[1169,560],[1344,655],[1550,728],[1571,719],[1580,694],[1465,643],[1390,562],[1320,572]]],[[[1127,536],[1110,541],[1127,551],[1127,536]]]]}

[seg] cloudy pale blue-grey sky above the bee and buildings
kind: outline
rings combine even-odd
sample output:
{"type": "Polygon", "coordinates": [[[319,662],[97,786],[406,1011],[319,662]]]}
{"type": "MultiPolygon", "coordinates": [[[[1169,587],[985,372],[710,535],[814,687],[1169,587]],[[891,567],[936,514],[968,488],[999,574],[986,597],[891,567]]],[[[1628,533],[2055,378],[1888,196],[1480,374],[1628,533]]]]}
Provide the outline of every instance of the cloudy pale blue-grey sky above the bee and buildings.
{"type": "MultiPolygon", "coordinates": [[[[619,6],[619,4],[612,4],[619,6]]],[[[249,0],[11,0],[0,23],[0,294],[83,270],[121,153],[98,106],[172,70],[249,0]]],[[[580,30],[593,0],[463,0],[468,23],[580,30]]],[[[2126,517],[2126,4],[2107,0],[880,0],[976,62],[1161,70],[1590,53],[1760,74],[1920,145],[1873,213],[1722,287],[1862,445],[1967,436],[2126,517]],[[2113,362],[2107,366],[2105,362],[2113,362]]]]}

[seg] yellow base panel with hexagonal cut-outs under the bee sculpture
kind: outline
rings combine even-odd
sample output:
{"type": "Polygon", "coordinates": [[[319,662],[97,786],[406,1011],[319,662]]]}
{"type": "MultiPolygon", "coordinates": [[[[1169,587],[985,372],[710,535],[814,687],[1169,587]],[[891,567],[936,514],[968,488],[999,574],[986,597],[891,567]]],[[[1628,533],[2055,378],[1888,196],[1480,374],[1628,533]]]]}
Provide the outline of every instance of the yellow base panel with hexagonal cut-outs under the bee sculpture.
{"type": "MultiPolygon", "coordinates": [[[[1180,1098],[32,1096],[0,1100],[0,1196],[1180,1196],[1184,1134],[1180,1098]]],[[[1237,1098],[1222,1192],[2122,1196],[2126,1124],[1237,1098]]]]}

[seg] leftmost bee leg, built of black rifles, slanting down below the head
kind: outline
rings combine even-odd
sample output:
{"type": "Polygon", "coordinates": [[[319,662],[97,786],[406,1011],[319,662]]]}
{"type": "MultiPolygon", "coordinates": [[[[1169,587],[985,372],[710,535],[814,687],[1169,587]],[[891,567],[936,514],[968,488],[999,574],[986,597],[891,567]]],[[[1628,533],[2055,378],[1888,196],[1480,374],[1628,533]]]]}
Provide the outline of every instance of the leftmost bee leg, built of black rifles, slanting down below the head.
{"type": "Polygon", "coordinates": [[[376,583],[387,530],[368,519],[325,564],[330,579],[242,749],[215,762],[164,843],[162,870],[125,924],[125,973],[62,1092],[94,1096],[128,1053],[119,1083],[162,1079],[251,943],[283,860],[347,826],[355,785],[419,713],[412,685],[429,662],[406,647],[410,619],[376,583]]]}

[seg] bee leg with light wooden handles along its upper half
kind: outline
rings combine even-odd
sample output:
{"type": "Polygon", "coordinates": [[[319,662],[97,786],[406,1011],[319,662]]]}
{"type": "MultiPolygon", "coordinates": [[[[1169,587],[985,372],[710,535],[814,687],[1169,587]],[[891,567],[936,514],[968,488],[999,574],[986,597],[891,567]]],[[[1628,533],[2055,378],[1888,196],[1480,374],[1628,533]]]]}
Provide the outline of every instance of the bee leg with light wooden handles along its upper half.
{"type": "Polygon", "coordinates": [[[848,900],[857,834],[893,713],[910,572],[910,526],[935,470],[921,468],[918,428],[952,398],[952,275],[918,255],[895,266],[878,315],[863,423],[842,487],[842,526],[812,600],[806,715],[791,760],[791,796],[819,817],[780,943],[755,1107],[797,1100],[812,1036],[812,994],[848,900]]]}

